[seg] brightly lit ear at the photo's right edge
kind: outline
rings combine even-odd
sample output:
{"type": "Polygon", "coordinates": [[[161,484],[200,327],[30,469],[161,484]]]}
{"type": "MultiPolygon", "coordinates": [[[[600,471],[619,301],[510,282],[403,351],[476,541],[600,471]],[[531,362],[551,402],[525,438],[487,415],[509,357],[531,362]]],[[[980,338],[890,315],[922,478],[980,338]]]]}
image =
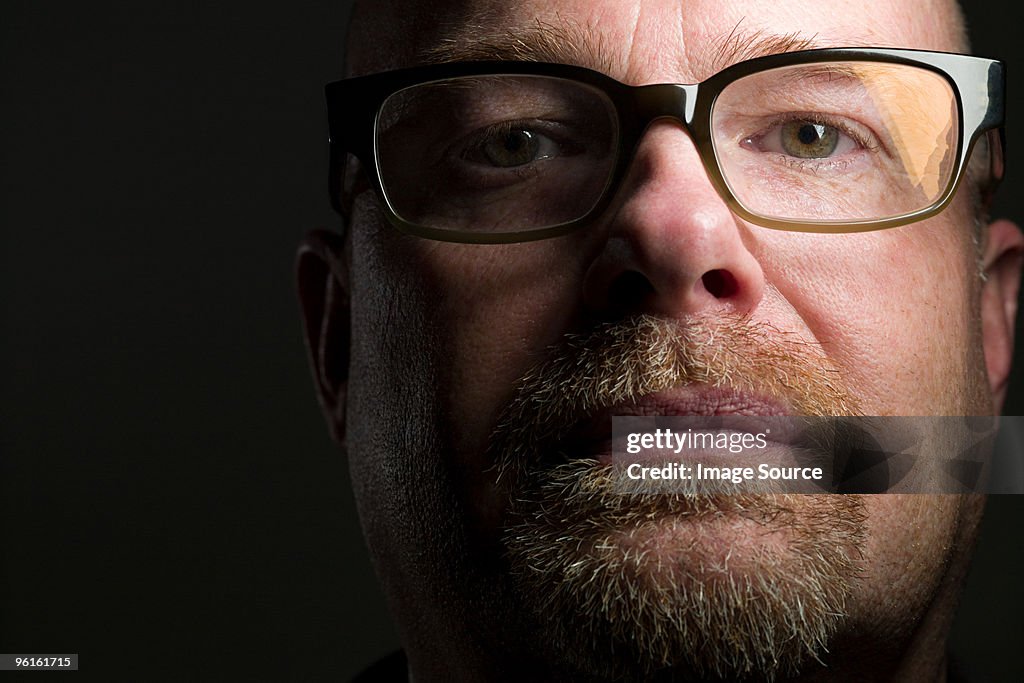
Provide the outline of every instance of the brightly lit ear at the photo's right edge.
{"type": "Polygon", "coordinates": [[[985,367],[996,414],[1002,411],[1010,381],[1022,262],[1024,236],[1020,228],[1009,220],[990,224],[982,256],[985,282],[981,290],[981,323],[985,367]]]}

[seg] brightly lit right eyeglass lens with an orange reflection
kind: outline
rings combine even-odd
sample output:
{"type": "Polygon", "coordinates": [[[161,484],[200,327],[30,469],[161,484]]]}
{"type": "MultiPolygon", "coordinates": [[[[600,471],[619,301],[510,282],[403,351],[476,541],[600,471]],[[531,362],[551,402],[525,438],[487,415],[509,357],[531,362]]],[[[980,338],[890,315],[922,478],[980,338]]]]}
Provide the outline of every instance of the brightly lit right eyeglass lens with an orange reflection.
{"type": "Polygon", "coordinates": [[[751,213],[810,223],[904,216],[939,201],[959,121],[944,78],[867,61],[785,67],[731,83],[715,153],[751,213]]]}

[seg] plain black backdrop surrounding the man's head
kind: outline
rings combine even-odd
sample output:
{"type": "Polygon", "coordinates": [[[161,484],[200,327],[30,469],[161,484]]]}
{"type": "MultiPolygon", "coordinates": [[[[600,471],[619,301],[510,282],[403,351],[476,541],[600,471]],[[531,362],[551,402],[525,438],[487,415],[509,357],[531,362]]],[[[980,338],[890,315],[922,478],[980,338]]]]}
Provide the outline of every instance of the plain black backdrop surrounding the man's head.
{"type": "MultiPolygon", "coordinates": [[[[1024,58],[1012,4],[973,4],[976,52],[1011,62],[995,215],[1021,221],[1024,58]]],[[[321,680],[396,645],[292,284],[336,224],[347,7],[0,9],[0,652],[321,680]]],[[[1024,497],[989,508],[954,649],[1019,680],[1024,497]]]]}

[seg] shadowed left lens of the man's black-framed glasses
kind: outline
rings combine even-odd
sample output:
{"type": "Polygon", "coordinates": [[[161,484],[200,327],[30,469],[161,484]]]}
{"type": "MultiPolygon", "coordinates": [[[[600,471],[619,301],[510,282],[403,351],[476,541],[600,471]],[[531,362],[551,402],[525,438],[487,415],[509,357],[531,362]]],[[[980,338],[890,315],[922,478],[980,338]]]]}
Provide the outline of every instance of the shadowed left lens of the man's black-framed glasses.
{"type": "Polygon", "coordinates": [[[384,194],[403,220],[516,232],[593,209],[614,167],[617,123],[607,97],[582,83],[465,77],[389,97],[376,145],[384,194]]]}

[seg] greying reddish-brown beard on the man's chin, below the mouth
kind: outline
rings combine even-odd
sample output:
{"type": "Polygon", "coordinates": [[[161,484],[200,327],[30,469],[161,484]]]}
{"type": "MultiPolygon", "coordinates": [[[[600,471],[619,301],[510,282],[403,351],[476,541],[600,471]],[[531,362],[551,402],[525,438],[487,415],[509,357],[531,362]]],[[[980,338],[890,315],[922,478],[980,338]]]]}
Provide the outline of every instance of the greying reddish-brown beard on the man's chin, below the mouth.
{"type": "Polygon", "coordinates": [[[853,496],[623,495],[580,460],[538,472],[506,548],[555,660],[609,679],[774,679],[821,660],[860,570],[853,496]]]}

